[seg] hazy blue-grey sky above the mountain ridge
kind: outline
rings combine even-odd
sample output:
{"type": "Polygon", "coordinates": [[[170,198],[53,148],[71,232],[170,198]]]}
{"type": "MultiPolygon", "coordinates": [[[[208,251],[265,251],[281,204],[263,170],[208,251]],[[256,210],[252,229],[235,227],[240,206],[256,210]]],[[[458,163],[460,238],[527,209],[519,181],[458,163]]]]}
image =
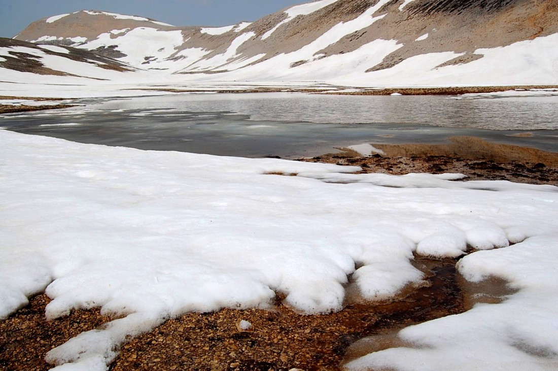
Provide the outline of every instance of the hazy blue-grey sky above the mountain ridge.
{"type": "Polygon", "coordinates": [[[153,18],[175,26],[228,26],[255,21],[310,0],[0,0],[0,37],[40,18],[83,9],[153,18]]]}

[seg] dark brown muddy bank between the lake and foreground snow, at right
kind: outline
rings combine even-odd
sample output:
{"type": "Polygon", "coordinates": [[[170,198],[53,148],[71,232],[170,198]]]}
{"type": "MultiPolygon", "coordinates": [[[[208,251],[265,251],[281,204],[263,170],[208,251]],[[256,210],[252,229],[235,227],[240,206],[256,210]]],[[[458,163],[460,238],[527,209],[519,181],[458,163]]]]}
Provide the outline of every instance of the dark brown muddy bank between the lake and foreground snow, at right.
{"type": "Polygon", "coordinates": [[[372,144],[376,153],[363,155],[351,148],[340,153],[300,158],[298,161],[360,166],[361,174],[405,175],[459,173],[468,180],[507,180],[558,186],[558,153],[530,147],[453,137],[450,144],[372,144]]]}

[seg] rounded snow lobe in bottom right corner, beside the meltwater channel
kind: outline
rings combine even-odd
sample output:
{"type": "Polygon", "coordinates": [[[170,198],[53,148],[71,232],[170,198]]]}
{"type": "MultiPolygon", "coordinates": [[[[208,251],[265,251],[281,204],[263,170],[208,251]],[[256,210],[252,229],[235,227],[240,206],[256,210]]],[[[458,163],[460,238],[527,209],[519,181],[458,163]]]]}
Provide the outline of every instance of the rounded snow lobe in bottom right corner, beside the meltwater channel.
{"type": "Polygon", "coordinates": [[[477,304],[460,315],[407,327],[398,338],[413,348],[369,354],[350,363],[349,370],[555,370],[556,237],[530,237],[463,258],[458,267],[467,280],[503,278],[518,292],[499,304],[477,304]]]}

